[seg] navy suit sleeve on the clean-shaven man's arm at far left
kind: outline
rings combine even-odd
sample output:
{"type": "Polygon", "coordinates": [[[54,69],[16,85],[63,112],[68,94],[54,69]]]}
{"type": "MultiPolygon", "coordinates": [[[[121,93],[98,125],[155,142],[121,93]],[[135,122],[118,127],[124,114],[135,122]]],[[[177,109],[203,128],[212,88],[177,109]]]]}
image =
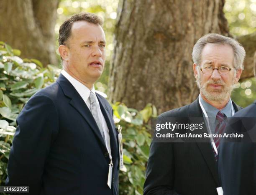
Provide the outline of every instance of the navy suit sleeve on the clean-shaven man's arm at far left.
{"type": "Polygon", "coordinates": [[[6,185],[29,186],[30,194],[40,193],[44,165],[58,133],[57,117],[49,97],[36,95],[28,101],[17,119],[6,185]]]}

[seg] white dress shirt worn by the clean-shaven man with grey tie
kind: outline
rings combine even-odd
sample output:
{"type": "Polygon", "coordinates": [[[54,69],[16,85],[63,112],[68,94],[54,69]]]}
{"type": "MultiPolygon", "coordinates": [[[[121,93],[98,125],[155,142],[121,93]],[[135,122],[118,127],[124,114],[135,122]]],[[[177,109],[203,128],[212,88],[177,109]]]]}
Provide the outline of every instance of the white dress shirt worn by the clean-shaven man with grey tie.
{"type": "MultiPolygon", "coordinates": [[[[89,96],[90,96],[90,92],[91,91],[92,91],[92,93],[95,94],[94,86],[92,87],[92,90],[90,91],[90,89],[88,89],[87,86],[85,86],[84,84],[82,84],[79,81],[77,81],[77,79],[74,79],[65,70],[62,70],[61,74],[63,76],[65,76],[66,79],[74,86],[74,88],[77,90],[77,92],[82,97],[82,99],[84,100],[85,104],[87,105],[87,107],[91,111],[89,96]]],[[[95,94],[95,97],[96,97],[96,103],[98,104],[98,106],[100,108],[100,103],[99,103],[99,101],[97,99],[96,94],[95,94]]],[[[106,120],[105,120],[101,110],[99,111],[99,113],[100,113],[99,119],[102,122],[102,128],[103,128],[103,132],[104,132],[104,135],[105,135],[105,140],[104,141],[105,141],[106,147],[108,149],[108,153],[109,153],[110,158],[111,158],[110,137],[109,137],[108,125],[106,123],[106,120]]]]}

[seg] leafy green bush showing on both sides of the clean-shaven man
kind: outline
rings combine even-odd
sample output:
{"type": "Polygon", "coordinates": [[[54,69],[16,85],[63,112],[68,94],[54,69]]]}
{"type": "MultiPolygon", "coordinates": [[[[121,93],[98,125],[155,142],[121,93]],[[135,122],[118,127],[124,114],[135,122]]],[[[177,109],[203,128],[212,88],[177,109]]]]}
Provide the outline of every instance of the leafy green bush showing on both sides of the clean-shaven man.
{"type": "MultiPolygon", "coordinates": [[[[15,120],[28,99],[39,89],[53,83],[61,69],[42,67],[35,59],[21,59],[19,50],[0,42],[0,185],[7,177],[7,163],[15,132],[15,120]]],[[[123,127],[123,154],[126,172],[120,171],[120,195],[143,193],[146,162],[151,135],[148,120],[156,108],[148,104],[143,110],[112,105],[116,125],[123,127]]]]}

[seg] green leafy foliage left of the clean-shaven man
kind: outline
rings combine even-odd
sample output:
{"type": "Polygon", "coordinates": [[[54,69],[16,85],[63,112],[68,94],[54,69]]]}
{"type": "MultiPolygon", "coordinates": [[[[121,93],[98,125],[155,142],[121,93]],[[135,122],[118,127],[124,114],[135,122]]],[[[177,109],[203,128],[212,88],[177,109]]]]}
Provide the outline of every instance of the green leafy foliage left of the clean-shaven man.
{"type": "Polygon", "coordinates": [[[7,176],[16,118],[28,99],[57,78],[60,69],[42,68],[36,59],[21,59],[19,50],[0,42],[0,185],[7,176]]]}

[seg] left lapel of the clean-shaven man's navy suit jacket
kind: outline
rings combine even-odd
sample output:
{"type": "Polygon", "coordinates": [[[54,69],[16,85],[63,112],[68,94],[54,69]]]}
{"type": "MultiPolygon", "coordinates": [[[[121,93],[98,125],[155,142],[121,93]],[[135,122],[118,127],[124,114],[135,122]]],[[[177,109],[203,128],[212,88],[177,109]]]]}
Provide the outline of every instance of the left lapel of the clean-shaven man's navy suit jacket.
{"type": "Polygon", "coordinates": [[[92,131],[100,142],[102,151],[107,151],[105,142],[103,141],[102,135],[100,134],[100,129],[98,128],[92,113],[90,112],[82,97],[78,94],[77,90],[74,89],[74,86],[72,86],[72,84],[62,74],[60,74],[56,82],[59,83],[64,94],[71,99],[69,104],[71,104],[74,109],[76,109],[82,115],[82,117],[91,127],[92,131]]]}

